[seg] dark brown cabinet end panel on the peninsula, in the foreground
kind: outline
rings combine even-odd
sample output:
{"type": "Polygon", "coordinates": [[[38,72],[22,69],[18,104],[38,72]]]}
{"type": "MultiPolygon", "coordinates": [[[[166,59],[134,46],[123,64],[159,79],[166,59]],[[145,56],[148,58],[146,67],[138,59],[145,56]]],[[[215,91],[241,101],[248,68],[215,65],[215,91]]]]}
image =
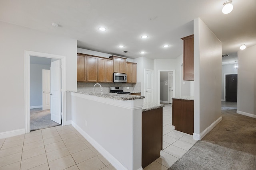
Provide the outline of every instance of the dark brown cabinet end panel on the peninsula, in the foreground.
{"type": "Polygon", "coordinates": [[[163,108],[142,112],[142,168],[160,157],[163,148],[163,108]]]}

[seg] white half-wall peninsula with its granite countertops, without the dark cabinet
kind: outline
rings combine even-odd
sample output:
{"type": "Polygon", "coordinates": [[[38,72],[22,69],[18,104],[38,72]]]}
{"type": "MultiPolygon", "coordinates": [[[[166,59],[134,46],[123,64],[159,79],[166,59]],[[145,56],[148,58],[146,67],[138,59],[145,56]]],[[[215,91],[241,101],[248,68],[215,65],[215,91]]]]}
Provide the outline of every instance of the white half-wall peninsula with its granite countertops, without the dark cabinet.
{"type": "Polygon", "coordinates": [[[142,111],[162,109],[163,105],[143,107],[144,96],[128,94],[78,90],[67,92],[67,97],[72,125],[116,169],[142,170],[142,111]]]}

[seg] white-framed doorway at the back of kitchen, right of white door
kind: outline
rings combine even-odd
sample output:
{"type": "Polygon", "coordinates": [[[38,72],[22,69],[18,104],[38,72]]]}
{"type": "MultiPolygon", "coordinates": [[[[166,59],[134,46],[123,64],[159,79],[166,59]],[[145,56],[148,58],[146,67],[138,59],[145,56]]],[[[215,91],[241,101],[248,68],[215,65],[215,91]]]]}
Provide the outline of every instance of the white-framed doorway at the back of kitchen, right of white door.
{"type": "Polygon", "coordinates": [[[158,101],[172,103],[175,96],[175,70],[158,70],[158,101]]]}

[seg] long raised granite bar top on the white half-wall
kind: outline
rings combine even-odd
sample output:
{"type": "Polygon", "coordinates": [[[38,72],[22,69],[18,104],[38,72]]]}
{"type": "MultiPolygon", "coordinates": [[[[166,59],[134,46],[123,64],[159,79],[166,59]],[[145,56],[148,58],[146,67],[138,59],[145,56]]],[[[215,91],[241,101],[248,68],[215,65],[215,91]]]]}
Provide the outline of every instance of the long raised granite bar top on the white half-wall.
{"type": "Polygon", "coordinates": [[[115,100],[136,100],[136,99],[144,99],[144,96],[135,96],[130,94],[116,94],[116,93],[106,93],[106,92],[86,92],[82,90],[76,91],[67,91],[67,92],[74,92],[79,94],[85,94],[90,96],[97,96],[102,98],[110,98],[115,100]]]}

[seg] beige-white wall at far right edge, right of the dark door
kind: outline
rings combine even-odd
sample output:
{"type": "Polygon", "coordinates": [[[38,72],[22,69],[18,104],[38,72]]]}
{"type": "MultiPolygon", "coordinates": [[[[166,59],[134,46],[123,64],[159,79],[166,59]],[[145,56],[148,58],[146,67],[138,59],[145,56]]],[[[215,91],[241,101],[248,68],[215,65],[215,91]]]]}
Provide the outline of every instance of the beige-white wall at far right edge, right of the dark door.
{"type": "Polygon", "coordinates": [[[238,51],[237,111],[256,118],[256,46],[238,51]]]}

